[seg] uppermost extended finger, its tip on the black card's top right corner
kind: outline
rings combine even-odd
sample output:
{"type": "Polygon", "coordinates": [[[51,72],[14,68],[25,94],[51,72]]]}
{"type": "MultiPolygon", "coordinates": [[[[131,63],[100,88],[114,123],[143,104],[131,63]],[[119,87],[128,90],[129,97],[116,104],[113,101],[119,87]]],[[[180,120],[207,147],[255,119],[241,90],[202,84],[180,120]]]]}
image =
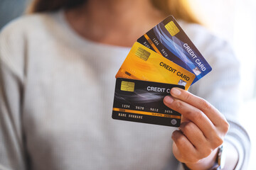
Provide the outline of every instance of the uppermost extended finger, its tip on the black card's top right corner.
{"type": "Polygon", "coordinates": [[[203,113],[207,115],[207,117],[213,122],[214,125],[221,125],[222,123],[225,123],[226,120],[224,116],[208,101],[204,100],[203,98],[200,98],[198,96],[195,96],[188,91],[185,91],[183,89],[179,88],[173,88],[171,89],[171,96],[174,98],[178,98],[181,101],[184,101],[191,106],[194,106],[195,108],[198,108],[203,113]]]}

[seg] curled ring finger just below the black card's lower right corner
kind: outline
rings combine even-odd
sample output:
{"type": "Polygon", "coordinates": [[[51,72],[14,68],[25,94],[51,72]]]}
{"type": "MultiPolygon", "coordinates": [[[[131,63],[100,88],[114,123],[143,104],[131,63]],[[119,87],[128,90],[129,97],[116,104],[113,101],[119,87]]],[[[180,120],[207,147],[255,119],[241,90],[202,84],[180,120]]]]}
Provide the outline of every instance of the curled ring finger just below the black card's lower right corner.
{"type": "MultiPolygon", "coordinates": [[[[203,135],[203,132],[192,122],[181,123],[179,128],[183,135],[196,147],[196,150],[200,153],[201,158],[208,157],[212,152],[210,142],[203,135]]],[[[213,148],[214,149],[214,148],[213,148]]]]}

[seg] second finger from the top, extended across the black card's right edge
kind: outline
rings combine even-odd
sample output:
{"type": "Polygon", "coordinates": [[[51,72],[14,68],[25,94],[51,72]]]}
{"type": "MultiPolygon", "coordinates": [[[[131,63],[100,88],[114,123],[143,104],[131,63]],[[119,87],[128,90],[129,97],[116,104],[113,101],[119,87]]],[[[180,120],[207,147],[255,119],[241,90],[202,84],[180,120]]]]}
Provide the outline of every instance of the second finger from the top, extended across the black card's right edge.
{"type": "Polygon", "coordinates": [[[166,96],[164,98],[164,104],[195,123],[206,138],[213,139],[215,137],[215,133],[213,133],[215,132],[215,126],[198,108],[171,96],[166,96]]]}

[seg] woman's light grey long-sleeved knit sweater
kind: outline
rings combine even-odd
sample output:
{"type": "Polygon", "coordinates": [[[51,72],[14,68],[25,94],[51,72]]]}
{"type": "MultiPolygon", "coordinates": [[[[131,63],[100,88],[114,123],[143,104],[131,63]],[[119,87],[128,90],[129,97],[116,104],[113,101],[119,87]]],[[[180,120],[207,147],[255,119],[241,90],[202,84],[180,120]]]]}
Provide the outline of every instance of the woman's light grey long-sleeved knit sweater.
{"type": "MultiPolygon", "coordinates": [[[[239,64],[232,50],[181,22],[213,71],[191,86],[230,122],[226,142],[247,159],[236,123],[239,64]]],[[[85,40],[63,11],[23,16],[0,34],[0,169],[178,169],[175,128],[112,120],[115,74],[127,47],[85,40]]]]}

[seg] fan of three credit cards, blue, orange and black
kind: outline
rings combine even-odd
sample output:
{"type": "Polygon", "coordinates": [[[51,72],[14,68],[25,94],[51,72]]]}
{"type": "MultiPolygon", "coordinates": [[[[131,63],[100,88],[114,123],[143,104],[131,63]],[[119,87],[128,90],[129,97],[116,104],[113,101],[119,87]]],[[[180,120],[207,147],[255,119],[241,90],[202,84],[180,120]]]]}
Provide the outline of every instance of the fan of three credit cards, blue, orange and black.
{"type": "Polygon", "coordinates": [[[173,16],[142,35],[117,72],[112,118],[178,127],[181,114],[164,105],[171,88],[188,90],[211,67],[173,16]]]}

